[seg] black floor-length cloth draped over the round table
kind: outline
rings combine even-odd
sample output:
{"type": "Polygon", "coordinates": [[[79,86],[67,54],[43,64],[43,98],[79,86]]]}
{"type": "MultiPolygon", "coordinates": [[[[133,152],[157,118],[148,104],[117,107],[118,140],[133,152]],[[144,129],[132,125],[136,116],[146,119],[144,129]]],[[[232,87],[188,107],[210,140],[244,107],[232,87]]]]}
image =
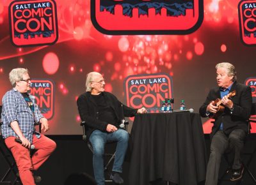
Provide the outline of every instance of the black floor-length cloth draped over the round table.
{"type": "Polygon", "coordinates": [[[137,114],[129,150],[129,185],[147,185],[159,179],[193,185],[205,180],[207,160],[199,114],[137,114]]]}

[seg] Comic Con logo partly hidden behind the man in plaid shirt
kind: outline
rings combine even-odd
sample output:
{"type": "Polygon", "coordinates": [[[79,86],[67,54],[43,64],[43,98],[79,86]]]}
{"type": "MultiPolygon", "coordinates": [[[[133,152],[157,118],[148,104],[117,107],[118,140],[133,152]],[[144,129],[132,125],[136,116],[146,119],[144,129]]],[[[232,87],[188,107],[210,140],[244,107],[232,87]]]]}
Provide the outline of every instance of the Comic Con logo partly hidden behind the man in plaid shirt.
{"type": "Polygon", "coordinates": [[[54,83],[49,79],[31,80],[30,94],[35,96],[36,104],[45,118],[54,115],[54,83]]]}

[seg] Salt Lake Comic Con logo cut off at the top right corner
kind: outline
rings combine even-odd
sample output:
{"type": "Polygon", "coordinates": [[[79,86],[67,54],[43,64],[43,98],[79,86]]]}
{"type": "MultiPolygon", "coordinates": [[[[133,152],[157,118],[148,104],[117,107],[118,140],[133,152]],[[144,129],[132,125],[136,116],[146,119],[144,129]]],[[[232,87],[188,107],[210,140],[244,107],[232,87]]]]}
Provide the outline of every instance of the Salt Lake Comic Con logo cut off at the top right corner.
{"type": "Polygon", "coordinates": [[[256,1],[240,1],[238,11],[242,42],[256,45],[256,1]]]}

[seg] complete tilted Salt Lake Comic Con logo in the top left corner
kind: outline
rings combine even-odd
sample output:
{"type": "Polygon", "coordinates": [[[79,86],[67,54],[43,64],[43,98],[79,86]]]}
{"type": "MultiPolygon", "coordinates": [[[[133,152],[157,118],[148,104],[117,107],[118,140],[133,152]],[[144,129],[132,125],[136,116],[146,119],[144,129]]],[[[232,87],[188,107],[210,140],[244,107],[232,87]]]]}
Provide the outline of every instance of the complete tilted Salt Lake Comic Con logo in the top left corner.
{"type": "Polygon", "coordinates": [[[53,0],[13,1],[9,6],[11,41],[18,47],[50,45],[58,40],[53,0]]]}

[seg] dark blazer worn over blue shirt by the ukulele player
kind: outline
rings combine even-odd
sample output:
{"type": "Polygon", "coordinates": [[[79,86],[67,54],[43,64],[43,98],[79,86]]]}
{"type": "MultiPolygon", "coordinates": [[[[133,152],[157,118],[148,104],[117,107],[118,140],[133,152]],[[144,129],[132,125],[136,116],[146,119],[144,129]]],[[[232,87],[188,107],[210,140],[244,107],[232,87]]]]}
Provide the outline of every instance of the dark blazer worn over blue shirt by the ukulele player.
{"type": "MultiPolygon", "coordinates": [[[[234,110],[231,112],[225,107],[221,114],[212,126],[212,136],[218,131],[221,122],[223,122],[223,131],[228,135],[233,129],[241,128],[246,133],[248,132],[248,122],[252,108],[252,89],[249,86],[234,82],[230,92],[236,90],[236,95],[230,98],[234,103],[234,110]]],[[[204,104],[200,107],[199,112],[202,117],[207,117],[206,108],[211,101],[221,98],[220,87],[215,87],[209,92],[204,104]]]]}

